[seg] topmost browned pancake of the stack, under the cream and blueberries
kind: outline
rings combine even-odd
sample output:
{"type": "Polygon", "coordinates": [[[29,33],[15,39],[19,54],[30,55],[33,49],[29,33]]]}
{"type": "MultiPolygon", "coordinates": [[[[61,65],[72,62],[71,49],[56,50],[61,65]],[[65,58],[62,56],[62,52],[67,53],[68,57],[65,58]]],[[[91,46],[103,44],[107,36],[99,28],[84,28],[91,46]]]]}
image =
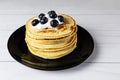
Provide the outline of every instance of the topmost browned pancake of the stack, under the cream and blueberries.
{"type": "Polygon", "coordinates": [[[66,15],[60,14],[64,17],[63,24],[58,25],[55,28],[42,28],[37,29],[32,26],[31,22],[37,18],[37,16],[30,18],[26,22],[26,34],[34,39],[61,39],[67,36],[73,35],[77,32],[75,20],[66,15]]]}

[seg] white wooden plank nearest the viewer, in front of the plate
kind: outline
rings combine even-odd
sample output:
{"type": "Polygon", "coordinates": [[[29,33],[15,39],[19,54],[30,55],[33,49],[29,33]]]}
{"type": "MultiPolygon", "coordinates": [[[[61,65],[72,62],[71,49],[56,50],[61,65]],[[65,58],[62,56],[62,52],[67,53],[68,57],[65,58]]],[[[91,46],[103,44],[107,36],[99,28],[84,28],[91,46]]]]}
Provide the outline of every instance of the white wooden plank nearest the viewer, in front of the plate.
{"type": "Polygon", "coordinates": [[[0,62],[0,79],[2,80],[119,80],[120,64],[83,63],[62,71],[42,71],[25,67],[16,62],[0,62]]]}

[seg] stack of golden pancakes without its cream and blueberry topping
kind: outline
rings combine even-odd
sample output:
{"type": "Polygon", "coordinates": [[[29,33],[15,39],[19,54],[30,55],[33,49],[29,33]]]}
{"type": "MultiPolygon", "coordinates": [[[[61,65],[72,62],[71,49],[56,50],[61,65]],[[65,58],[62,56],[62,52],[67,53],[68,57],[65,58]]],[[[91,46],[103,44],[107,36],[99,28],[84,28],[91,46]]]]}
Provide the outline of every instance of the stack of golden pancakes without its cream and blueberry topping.
{"type": "Polygon", "coordinates": [[[70,54],[76,48],[75,20],[66,14],[59,15],[63,16],[64,21],[56,27],[45,25],[44,28],[35,28],[31,23],[34,19],[38,19],[38,16],[26,22],[25,41],[33,55],[44,59],[57,59],[70,54]]]}

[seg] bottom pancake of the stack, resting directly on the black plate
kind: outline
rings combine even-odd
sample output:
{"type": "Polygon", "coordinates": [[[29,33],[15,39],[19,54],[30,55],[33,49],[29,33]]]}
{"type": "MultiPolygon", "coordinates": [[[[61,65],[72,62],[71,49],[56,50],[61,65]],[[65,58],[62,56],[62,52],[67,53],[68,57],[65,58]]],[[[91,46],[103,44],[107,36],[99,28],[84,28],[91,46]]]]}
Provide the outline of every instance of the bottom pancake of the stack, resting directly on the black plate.
{"type": "Polygon", "coordinates": [[[71,53],[75,48],[76,44],[70,46],[67,49],[60,50],[60,51],[40,51],[39,49],[36,49],[34,47],[28,46],[29,50],[32,52],[33,55],[39,56],[44,59],[58,59],[65,55],[68,55],[71,53]]]}

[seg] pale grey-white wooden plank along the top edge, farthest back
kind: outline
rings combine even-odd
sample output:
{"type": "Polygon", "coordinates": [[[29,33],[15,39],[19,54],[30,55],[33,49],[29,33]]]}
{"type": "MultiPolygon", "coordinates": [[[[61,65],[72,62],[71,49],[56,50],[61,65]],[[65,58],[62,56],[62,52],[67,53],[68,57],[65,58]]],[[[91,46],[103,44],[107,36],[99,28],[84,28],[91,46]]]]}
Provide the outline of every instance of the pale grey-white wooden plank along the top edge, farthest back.
{"type": "Polygon", "coordinates": [[[81,13],[81,14],[120,14],[120,1],[119,0],[69,0],[68,1],[56,1],[56,0],[24,0],[24,1],[16,1],[16,0],[5,0],[0,1],[0,13],[1,14],[9,14],[10,13],[19,14],[20,11],[28,11],[29,14],[40,13],[48,10],[56,10],[62,13],[81,13]],[[31,11],[32,10],[32,11],[31,11]],[[107,10],[107,11],[106,11],[107,10]]]}

